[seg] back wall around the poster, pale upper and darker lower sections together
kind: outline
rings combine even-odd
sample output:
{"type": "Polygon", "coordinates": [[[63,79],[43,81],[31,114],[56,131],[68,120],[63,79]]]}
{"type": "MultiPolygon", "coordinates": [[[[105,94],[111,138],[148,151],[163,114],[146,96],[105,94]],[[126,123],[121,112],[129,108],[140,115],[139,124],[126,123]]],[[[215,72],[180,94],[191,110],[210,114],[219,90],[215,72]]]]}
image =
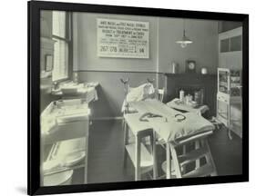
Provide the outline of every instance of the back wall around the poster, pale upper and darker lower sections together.
{"type": "Polygon", "coordinates": [[[74,70],[79,71],[81,82],[97,81],[99,100],[94,104],[97,117],[121,116],[125,98],[121,78],[129,78],[131,86],[145,83],[147,78],[157,80],[158,19],[134,15],[74,15],[74,70]],[[115,18],[149,22],[149,58],[97,57],[97,18],[115,18]],[[113,72],[111,72],[113,71],[113,72]]]}

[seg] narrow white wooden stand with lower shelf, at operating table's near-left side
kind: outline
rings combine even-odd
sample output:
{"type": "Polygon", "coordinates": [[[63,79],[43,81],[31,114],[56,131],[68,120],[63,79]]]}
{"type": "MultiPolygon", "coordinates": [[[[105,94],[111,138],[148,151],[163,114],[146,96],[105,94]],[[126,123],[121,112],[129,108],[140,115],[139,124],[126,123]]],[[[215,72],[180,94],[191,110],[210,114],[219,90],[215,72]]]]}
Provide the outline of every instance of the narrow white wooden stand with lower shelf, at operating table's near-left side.
{"type": "Polygon", "coordinates": [[[139,113],[124,114],[125,127],[125,151],[124,164],[126,163],[126,156],[129,155],[135,168],[135,181],[141,180],[141,174],[153,170],[153,179],[157,179],[157,162],[156,162],[156,146],[155,137],[152,128],[148,126],[148,122],[139,121],[139,113]],[[135,136],[135,142],[128,142],[128,130],[135,136]],[[142,142],[146,137],[150,138],[150,150],[142,142]]]}

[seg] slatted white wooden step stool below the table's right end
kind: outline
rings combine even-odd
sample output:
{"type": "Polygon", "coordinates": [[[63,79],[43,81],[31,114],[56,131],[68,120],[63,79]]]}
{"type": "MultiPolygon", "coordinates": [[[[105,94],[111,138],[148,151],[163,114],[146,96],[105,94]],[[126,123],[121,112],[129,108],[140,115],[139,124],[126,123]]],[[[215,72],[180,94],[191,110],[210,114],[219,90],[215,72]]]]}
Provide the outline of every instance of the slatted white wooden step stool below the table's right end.
{"type": "MultiPolygon", "coordinates": [[[[169,142],[168,151],[171,152],[172,165],[174,167],[172,171],[175,171],[176,178],[195,178],[217,175],[216,167],[210,153],[210,146],[207,141],[211,133],[212,131],[202,132],[189,138],[180,139],[178,142],[169,142]],[[195,149],[190,152],[183,151],[181,155],[178,155],[177,148],[183,148],[191,142],[195,142],[195,149]],[[203,165],[200,164],[202,158],[205,158],[205,164],[203,165]],[[193,170],[187,171],[186,166],[191,162],[195,162],[195,167],[193,170]]],[[[163,169],[164,168],[166,167],[163,167],[163,169]]]]}

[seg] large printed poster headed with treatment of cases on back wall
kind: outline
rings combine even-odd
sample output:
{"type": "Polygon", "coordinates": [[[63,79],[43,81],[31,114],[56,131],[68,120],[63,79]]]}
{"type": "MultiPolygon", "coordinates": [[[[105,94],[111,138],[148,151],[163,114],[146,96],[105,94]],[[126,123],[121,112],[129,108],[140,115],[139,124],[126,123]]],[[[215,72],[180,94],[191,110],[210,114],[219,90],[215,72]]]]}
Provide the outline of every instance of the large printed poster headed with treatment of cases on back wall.
{"type": "Polygon", "coordinates": [[[149,58],[149,23],[97,19],[97,56],[149,58]]]}

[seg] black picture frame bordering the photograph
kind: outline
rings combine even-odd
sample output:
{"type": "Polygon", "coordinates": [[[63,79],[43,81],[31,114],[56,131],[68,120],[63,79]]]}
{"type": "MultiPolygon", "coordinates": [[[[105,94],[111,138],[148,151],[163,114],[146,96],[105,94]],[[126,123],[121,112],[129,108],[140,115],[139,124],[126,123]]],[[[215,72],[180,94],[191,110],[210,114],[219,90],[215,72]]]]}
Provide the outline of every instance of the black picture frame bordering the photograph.
{"type": "Polygon", "coordinates": [[[83,191],[110,191],[142,189],[195,184],[212,184],[249,181],[249,15],[140,8],[113,5],[86,5],[59,2],[30,1],[27,5],[28,32],[28,94],[27,94],[27,194],[56,194],[83,191]],[[98,184],[40,187],[40,10],[62,10],[121,15],[150,15],[164,17],[184,17],[193,19],[240,21],[242,23],[242,174],[194,179],[170,179],[157,181],[125,181],[98,184]]]}

